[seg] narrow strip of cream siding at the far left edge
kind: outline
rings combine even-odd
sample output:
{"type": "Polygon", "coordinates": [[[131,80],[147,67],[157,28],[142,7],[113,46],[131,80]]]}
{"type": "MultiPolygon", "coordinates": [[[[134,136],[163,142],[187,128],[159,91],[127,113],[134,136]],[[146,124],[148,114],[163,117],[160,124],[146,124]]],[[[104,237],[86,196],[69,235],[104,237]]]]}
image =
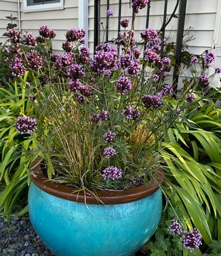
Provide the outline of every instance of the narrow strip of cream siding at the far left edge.
{"type": "MultiPolygon", "coordinates": [[[[9,20],[5,16],[13,15],[18,17],[18,2],[17,0],[0,0],[0,42],[5,42],[7,37],[3,36],[9,20]]],[[[18,25],[18,21],[14,21],[18,25]]]]}

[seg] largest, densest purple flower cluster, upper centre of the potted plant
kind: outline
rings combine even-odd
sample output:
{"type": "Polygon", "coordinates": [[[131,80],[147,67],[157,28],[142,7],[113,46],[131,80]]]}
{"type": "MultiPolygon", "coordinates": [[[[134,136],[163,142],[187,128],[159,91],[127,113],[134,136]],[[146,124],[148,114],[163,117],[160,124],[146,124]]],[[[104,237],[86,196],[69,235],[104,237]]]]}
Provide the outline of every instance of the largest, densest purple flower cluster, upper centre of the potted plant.
{"type": "Polygon", "coordinates": [[[97,74],[111,76],[113,69],[115,69],[115,57],[117,57],[117,50],[109,44],[98,46],[92,59],[92,70],[97,74]]]}

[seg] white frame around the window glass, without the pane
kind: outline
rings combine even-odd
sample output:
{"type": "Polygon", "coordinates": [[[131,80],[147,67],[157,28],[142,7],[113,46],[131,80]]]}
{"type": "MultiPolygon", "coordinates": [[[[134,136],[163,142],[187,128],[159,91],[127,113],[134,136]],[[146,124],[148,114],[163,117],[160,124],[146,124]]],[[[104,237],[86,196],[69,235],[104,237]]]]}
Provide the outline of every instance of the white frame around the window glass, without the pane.
{"type": "Polygon", "coordinates": [[[64,9],[64,0],[60,0],[60,3],[44,3],[40,5],[29,5],[27,0],[23,0],[23,12],[43,12],[49,10],[62,10],[64,9]]]}

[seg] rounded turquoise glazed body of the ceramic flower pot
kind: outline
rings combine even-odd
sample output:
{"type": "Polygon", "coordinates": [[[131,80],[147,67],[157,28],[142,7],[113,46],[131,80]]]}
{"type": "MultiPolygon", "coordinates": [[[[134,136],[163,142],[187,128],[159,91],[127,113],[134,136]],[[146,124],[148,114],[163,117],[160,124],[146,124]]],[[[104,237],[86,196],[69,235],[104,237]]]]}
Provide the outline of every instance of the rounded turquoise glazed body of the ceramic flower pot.
{"type": "Polygon", "coordinates": [[[85,204],[53,195],[53,189],[64,186],[43,182],[41,187],[38,174],[33,175],[28,195],[31,223],[57,256],[133,255],[157,229],[162,211],[159,189],[132,202],[85,204]]]}

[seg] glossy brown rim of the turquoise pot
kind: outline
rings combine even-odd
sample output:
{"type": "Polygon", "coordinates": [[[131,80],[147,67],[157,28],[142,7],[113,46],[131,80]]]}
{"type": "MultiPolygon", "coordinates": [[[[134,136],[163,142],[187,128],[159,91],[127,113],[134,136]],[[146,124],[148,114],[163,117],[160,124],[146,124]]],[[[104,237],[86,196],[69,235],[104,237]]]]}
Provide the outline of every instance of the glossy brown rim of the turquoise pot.
{"type": "Polygon", "coordinates": [[[39,189],[56,197],[86,204],[123,204],[153,195],[163,182],[163,169],[160,169],[156,173],[156,177],[151,178],[148,185],[122,191],[97,191],[95,196],[48,180],[41,172],[39,160],[34,161],[31,165],[31,180],[39,189]]]}

